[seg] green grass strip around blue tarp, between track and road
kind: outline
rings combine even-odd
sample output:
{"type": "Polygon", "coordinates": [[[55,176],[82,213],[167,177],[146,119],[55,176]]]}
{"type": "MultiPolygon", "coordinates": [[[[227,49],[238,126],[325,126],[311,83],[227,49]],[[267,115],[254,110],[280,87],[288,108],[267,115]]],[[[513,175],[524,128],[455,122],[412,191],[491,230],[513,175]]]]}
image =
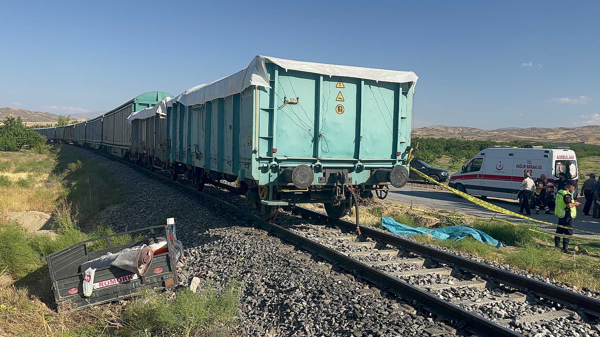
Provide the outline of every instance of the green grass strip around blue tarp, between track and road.
{"type": "MultiPolygon", "coordinates": [[[[412,213],[394,213],[392,207],[374,206],[369,213],[372,216],[391,216],[396,221],[411,227],[428,227],[428,218],[421,218],[412,213]]],[[[458,212],[450,212],[449,215],[460,216],[458,212]]],[[[564,254],[554,248],[554,239],[550,235],[537,233],[535,224],[525,224],[517,227],[502,221],[476,220],[466,221],[440,217],[439,222],[433,227],[447,227],[450,225],[470,225],[473,228],[489,234],[494,239],[500,240],[508,247],[496,248],[479,242],[472,237],[463,240],[439,240],[431,236],[413,236],[416,242],[428,245],[441,246],[455,251],[467,252],[486,260],[498,261],[502,264],[510,264],[511,267],[524,269],[530,273],[537,273],[547,278],[566,282],[575,287],[587,287],[592,290],[600,290],[600,243],[571,243],[571,247],[577,244],[581,249],[586,249],[590,254],[570,255],[564,254]]],[[[380,226],[380,224],[379,224],[380,226]]],[[[431,227],[431,226],[429,226],[431,227]]]]}

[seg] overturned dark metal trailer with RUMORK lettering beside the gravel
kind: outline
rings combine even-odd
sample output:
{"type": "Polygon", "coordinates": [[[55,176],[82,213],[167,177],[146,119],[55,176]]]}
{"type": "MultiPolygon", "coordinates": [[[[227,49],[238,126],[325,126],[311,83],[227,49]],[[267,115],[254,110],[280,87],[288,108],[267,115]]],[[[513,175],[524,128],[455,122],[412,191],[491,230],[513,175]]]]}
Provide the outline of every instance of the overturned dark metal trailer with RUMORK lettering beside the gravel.
{"type": "MultiPolygon", "coordinates": [[[[157,225],[85,240],[46,257],[56,309],[59,312],[77,311],[89,306],[128,299],[143,288],[161,290],[179,284],[176,265],[183,248],[177,241],[172,219],[167,225],[157,225]],[[146,235],[144,235],[146,234],[146,235]],[[145,237],[141,239],[139,236],[145,237]],[[136,238],[136,242],[113,246],[136,238]],[[132,272],[122,264],[94,265],[94,261],[116,256],[137,246],[158,245],[153,249],[144,271],[132,272]],[[94,273],[86,273],[89,266],[94,273]],[[93,278],[93,279],[92,279],[93,278]],[[86,284],[88,282],[88,284],[86,284]],[[85,287],[92,291],[85,292],[85,287]]],[[[136,261],[133,261],[135,264],[136,261]]]]}

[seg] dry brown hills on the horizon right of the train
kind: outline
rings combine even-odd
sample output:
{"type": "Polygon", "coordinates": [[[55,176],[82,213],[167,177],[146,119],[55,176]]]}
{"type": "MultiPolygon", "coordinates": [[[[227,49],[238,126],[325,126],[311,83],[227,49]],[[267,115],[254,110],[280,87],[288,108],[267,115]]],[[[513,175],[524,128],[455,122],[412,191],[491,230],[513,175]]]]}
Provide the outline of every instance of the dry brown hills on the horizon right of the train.
{"type": "Polygon", "coordinates": [[[432,127],[416,128],[413,136],[434,138],[479,139],[506,142],[510,140],[531,140],[532,142],[588,143],[600,145],[600,125],[587,125],[576,128],[500,128],[482,130],[470,127],[432,127]]]}

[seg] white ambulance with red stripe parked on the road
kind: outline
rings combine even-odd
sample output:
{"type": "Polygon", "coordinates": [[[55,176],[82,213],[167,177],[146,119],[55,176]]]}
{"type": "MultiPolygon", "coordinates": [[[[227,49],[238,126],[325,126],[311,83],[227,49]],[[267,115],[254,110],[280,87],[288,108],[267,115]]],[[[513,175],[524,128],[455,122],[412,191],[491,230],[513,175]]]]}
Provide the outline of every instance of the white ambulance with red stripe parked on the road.
{"type": "MultiPolygon", "coordinates": [[[[482,197],[519,198],[523,174],[530,173],[533,180],[545,174],[548,179],[548,202],[556,197],[555,182],[559,173],[567,180],[578,180],[577,157],[568,146],[493,147],[479,151],[461,171],[448,180],[450,187],[482,197]]],[[[577,191],[574,192],[577,195],[577,191]]]]}

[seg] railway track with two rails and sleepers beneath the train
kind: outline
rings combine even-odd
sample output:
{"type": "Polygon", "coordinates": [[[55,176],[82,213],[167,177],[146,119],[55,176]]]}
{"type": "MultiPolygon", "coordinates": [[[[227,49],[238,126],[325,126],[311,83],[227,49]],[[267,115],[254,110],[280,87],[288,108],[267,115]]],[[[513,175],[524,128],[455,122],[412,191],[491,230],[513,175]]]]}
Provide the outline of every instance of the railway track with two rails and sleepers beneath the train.
{"type": "MultiPolygon", "coordinates": [[[[600,317],[598,299],[371,227],[361,226],[362,235],[357,237],[353,234],[354,223],[331,220],[304,207],[286,209],[277,218],[281,224],[263,221],[245,206],[238,206],[250,206],[239,195],[217,188],[199,192],[187,179],[174,181],[130,161],[105,156],[235,212],[293,245],[386,288],[411,305],[421,306],[451,326],[478,336],[554,336],[565,329],[579,331],[571,336],[600,336],[595,321],[600,317]]],[[[221,182],[214,185],[235,191],[221,182]]],[[[428,333],[442,335],[449,330],[428,333]]]]}

